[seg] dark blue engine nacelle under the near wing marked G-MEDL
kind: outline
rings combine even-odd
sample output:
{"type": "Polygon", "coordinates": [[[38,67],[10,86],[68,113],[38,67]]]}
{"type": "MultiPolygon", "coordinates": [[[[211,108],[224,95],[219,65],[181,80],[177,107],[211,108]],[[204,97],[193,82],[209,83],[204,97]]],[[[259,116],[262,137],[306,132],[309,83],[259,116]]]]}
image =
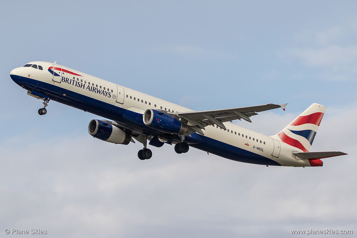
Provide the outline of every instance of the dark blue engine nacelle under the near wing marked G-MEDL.
{"type": "Polygon", "coordinates": [[[147,109],[142,119],[146,126],[161,132],[183,135],[187,131],[185,124],[155,109],[147,109]]]}

